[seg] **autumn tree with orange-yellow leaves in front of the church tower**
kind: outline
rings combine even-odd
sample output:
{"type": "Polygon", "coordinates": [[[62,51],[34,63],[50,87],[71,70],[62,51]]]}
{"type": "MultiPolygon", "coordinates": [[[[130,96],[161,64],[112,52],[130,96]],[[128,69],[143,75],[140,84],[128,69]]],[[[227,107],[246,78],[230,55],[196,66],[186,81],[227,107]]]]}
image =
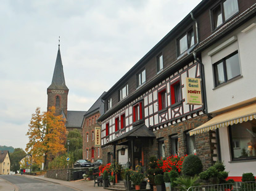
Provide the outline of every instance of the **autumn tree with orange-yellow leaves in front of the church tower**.
{"type": "Polygon", "coordinates": [[[48,112],[43,113],[39,107],[36,108],[26,134],[29,138],[26,152],[32,154],[34,163],[44,162],[46,168],[49,157],[54,158],[66,150],[65,119],[62,115],[56,116],[54,113],[55,107],[50,107],[48,112]]]}

